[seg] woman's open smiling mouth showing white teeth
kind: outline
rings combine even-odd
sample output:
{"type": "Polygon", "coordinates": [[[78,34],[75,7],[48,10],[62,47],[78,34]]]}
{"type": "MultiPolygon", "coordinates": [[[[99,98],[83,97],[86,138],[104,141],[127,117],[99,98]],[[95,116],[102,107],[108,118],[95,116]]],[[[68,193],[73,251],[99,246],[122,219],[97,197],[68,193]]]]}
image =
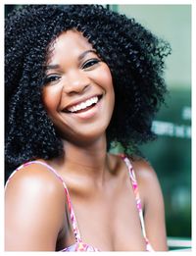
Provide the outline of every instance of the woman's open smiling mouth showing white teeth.
{"type": "Polygon", "coordinates": [[[93,108],[101,98],[102,98],[102,95],[93,96],[81,103],[78,103],[76,105],[73,105],[72,107],[66,108],[63,111],[65,113],[70,113],[70,114],[77,114],[77,113],[85,112],[85,111],[93,108]]]}

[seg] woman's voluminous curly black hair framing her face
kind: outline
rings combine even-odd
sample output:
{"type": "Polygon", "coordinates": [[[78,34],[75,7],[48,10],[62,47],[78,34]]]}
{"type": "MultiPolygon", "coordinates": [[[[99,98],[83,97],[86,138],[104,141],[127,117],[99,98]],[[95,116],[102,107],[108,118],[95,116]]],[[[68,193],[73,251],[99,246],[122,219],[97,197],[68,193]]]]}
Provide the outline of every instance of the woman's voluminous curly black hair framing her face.
{"type": "Polygon", "coordinates": [[[5,21],[7,173],[36,158],[63,154],[62,140],[42,104],[47,49],[62,31],[76,28],[109,66],[116,94],[108,145],[136,148],[155,137],[155,113],[167,92],[163,78],[169,43],[97,5],[26,5],[5,21]]]}

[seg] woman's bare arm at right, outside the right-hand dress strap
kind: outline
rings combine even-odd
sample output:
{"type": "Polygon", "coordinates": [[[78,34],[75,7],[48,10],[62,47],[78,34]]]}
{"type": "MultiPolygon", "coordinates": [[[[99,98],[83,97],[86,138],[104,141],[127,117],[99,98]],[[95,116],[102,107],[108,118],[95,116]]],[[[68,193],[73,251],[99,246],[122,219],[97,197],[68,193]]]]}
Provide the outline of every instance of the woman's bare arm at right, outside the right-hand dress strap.
{"type": "Polygon", "coordinates": [[[155,171],[146,161],[134,166],[144,211],[147,238],[156,251],[168,250],[165,206],[161,186],[155,171]]]}

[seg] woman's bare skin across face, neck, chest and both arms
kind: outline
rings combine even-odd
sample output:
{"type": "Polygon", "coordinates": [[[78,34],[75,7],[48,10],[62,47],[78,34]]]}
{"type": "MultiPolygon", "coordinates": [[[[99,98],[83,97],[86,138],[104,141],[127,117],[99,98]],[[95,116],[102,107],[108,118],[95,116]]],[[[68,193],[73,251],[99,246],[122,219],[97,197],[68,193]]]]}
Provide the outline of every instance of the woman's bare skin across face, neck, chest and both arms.
{"type": "MultiPolygon", "coordinates": [[[[68,186],[83,242],[101,251],[144,251],[127,167],[106,150],[105,130],[115,104],[111,73],[91,50],[79,32],[69,30],[58,37],[49,56],[43,103],[61,134],[66,154],[47,163],[68,186]],[[70,104],[93,95],[102,98],[87,118],[65,113],[70,104]]],[[[157,176],[144,160],[131,163],[147,237],[155,250],[167,250],[157,176]]],[[[55,251],[75,242],[64,187],[46,167],[34,164],[18,171],[5,196],[7,251],[55,251]]]]}

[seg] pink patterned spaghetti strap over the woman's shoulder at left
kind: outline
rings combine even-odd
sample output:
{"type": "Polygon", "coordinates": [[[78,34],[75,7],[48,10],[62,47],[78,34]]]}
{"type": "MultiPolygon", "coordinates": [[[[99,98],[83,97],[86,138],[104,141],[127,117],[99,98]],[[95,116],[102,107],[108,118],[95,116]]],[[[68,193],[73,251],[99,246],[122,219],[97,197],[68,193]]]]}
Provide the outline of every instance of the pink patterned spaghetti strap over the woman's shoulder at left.
{"type": "Polygon", "coordinates": [[[12,174],[11,176],[9,177],[9,179],[7,180],[6,182],[6,185],[5,185],[5,189],[8,185],[8,182],[13,178],[13,176],[21,169],[25,168],[26,166],[29,166],[31,164],[40,164],[42,166],[45,166],[48,170],[50,170],[58,179],[60,179],[63,183],[63,186],[65,188],[65,192],[66,192],[66,197],[67,197],[67,202],[68,202],[68,207],[69,207],[69,212],[70,212],[70,216],[71,216],[71,222],[72,222],[72,225],[73,225],[73,233],[74,233],[74,237],[75,237],[75,240],[76,242],[80,242],[81,241],[81,237],[80,237],[80,232],[78,230],[78,226],[77,226],[77,222],[76,222],[76,218],[75,218],[75,215],[74,215],[74,212],[73,212],[73,204],[72,204],[72,201],[71,201],[71,197],[70,197],[70,194],[69,194],[69,191],[68,191],[68,188],[67,188],[67,185],[64,181],[64,179],[62,179],[62,177],[57,173],[57,171],[52,168],[51,166],[49,166],[48,164],[46,163],[43,163],[41,161],[30,161],[30,162],[27,162],[25,163],[24,165],[20,166],[19,168],[17,168],[12,174]]]}

